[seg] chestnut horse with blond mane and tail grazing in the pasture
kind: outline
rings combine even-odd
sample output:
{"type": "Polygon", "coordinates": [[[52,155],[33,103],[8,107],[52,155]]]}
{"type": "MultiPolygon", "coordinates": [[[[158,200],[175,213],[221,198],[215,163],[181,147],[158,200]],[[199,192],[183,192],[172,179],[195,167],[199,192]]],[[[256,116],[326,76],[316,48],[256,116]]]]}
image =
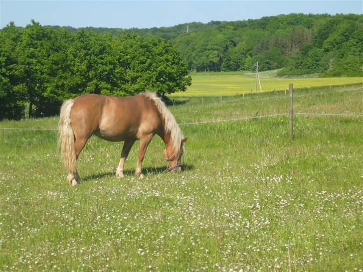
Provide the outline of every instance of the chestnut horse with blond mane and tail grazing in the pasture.
{"type": "Polygon", "coordinates": [[[136,140],[140,140],[140,147],[135,175],[143,177],[141,166],[145,151],[155,134],[165,142],[163,153],[168,165],[165,171],[181,170],[186,138],[174,116],[155,93],[130,97],[88,94],[66,100],[60,109],[58,127],[58,147],[70,185],[80,182],[76,160],[93,134],[105,140],[124,141],[117,177],[124,177],[124,163],[136,140]]]}

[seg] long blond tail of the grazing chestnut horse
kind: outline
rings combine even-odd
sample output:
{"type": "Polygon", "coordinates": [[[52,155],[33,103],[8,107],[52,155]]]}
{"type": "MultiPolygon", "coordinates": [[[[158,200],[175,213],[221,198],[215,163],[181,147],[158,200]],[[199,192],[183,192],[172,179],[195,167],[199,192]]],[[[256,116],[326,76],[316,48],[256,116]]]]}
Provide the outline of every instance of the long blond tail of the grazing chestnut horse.
{"type": "Polygon", "coordinates": [[[58,148],[61,150],[61,156],[64,166],[68,173],[76,172],[76,151],[74,144],[74,133],[71,125],[71,109],[74,100],[68,99],[64,101],[60,108],[60,119],[58,123],[58,148]]]}

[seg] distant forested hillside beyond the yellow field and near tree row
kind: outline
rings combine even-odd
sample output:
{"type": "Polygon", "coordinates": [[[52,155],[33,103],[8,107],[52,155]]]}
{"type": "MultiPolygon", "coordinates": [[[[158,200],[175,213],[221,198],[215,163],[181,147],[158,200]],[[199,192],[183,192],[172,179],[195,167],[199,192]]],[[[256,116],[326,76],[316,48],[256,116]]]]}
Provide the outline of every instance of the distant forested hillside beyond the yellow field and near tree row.
{"type": "Polygon", "coordinates": [[[261,71],[285,67],[280,75],[363,75],[363,15],[358,14],[292,13],[160,28],[83,29],[113,35],[132,32],[170,40],[188,69],[196,72],[251,70],[259,61],[261,71]]]}

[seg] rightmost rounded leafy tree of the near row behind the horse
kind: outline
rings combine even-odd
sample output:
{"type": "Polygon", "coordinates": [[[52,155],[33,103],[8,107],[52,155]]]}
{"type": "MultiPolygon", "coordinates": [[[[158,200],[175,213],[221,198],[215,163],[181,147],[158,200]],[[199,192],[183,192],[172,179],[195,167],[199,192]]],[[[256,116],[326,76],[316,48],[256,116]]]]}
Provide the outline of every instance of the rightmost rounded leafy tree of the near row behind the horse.
{"type": "Polygon", "coordinates": [[[167,95],[185,91],[190,85],[186,64],[169,41],[125,34],[115,45],[120,95],[145,90],[167,95]]]}

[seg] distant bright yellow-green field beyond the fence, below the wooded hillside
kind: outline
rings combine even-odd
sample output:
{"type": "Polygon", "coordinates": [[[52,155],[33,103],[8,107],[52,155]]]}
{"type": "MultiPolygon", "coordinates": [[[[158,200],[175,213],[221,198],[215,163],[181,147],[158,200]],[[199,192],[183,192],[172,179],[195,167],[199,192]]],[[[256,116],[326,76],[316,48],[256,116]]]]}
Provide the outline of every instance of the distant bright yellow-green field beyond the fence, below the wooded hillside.
{"type": "MultiPolygon", "coordinates": [[[[263,92],[286,90],[289,83],[295,88],[309,88],[321,86],[336,86],[344,84],[362,83],[362,77],[335,77],[335,78],[274,78],[274,72],[260,73],[263,92]]],[[[255,92],[256,78],[252,73],[246,72],[210,72],[192,73],[192,83],[186,92],[175,93],[173,97],[181,96],[225,96],[248,94],[255,92]]],[[[257,85],[257,92],[260,92],[257,85]]]]}

